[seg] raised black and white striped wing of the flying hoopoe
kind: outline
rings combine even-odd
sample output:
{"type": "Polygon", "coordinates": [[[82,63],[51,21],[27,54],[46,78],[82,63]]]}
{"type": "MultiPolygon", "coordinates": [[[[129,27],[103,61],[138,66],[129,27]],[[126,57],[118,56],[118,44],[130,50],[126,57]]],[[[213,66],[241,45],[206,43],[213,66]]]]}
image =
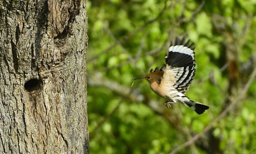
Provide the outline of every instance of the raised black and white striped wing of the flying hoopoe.
{"type": "Polygon", "coordinates": [[[195,52],[194,44],[190,40],[185,42],[185,37],[181,40],[176,37],[175,42],[171,42],[168,55],[165,56],[165,72],[163,76],[173,76],[173,87],[185,94],[195,75],[195,52]]]}

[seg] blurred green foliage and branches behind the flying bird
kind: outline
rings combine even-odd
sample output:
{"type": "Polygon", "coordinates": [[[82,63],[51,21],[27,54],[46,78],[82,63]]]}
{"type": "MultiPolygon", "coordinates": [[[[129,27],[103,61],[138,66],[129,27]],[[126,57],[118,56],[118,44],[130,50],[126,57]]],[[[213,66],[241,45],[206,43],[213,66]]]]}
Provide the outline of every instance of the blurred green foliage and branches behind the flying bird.
{"type": "Polygon", "coordinates": [[[89,0],[87,10],[91,154],[256,153],[256,0],[89,0]],[[195,43],[186,95],[210,106],[202,115],[165,108],[145,80],[131,88],[175,36],[195,43]]]}

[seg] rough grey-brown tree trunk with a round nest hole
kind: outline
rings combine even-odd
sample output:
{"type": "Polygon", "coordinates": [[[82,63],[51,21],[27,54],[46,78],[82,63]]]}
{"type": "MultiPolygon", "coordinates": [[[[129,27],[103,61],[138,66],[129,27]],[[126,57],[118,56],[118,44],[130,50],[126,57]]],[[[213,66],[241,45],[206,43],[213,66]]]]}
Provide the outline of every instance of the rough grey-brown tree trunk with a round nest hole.
{"type": "Polygon", "coordinates": [[[0,153],[89,153],[86,0],[0,0],[0,153]]]}

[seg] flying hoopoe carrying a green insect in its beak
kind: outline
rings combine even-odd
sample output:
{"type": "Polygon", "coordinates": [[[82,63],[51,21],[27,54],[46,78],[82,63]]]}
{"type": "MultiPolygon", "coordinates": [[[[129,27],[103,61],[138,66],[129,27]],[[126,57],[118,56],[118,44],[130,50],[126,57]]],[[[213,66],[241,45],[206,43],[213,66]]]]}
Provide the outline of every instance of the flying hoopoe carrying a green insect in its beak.
{"type": "Polygon", "coordinates": [[[209,107],[185,96],[185,91],[195,75],[194,49],[194,43],[190,43],[190,40],[185,42],[185,37],[182,40],[176,37],[174,44],[171,42],[168,55],[165,55],[165,64],[160,69],[151,69],[147,76],[134,78],[132,81],[146,79],[152,91],[166,99],[167,108],[170,108],[172,103],[179,102],[202,114],[209,107]]]}

